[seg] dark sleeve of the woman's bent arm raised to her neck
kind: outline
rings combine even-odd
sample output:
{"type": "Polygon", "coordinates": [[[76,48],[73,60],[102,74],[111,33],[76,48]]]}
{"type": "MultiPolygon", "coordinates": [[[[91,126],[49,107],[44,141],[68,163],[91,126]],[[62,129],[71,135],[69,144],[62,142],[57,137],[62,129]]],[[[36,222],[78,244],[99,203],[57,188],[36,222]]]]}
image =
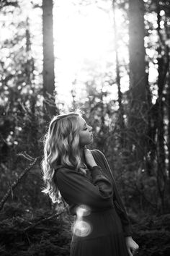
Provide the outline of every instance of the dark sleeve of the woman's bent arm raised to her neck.
{"type": "Polygon", "coordinates": [[[92,182],[71,168],[60,168],[55,181],[68,205],[88,205],[91,210],[109,208],[112,203],[112,182],[98,166],[91,170],[92,182]]]}

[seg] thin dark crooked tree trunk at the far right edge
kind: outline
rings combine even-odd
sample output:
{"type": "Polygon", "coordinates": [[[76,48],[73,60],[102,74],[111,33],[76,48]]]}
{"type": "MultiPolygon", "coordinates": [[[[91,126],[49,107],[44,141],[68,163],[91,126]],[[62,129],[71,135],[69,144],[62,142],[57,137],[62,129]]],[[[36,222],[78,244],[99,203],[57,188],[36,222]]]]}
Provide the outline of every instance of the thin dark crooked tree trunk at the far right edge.
{"type": "Polygon", "coordinates": [[[161,211],[166,212],[165,209],[165,192],[166,192],[166,152],[164,147],[164,89],[166,84],[166,76],[169,72],[169,48],[166,46],[164,38],[161,34],[161,8],[159,1],[156,1],[157,18],[158,18],[158,36],[161,41],[161,46],[157,49],[158,51],[158,166],[157,166],[157,182],[158,192],[161,197],[161,211]]]}

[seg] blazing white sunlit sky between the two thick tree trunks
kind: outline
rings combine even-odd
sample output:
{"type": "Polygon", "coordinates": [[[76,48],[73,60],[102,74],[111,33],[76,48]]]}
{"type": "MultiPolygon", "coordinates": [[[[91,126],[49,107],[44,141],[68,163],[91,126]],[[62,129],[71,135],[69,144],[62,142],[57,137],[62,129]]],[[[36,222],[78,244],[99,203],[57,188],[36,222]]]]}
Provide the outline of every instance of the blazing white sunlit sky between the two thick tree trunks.
{"type": "MultiPolygon", "coordinates": [[[[76,91],[77,100],[82,98],[85,82],[95,75],[101,75],[101,83],[104,73],[115,77],[112,2],[107,1],[106,7],[107,11],[92,2],[78,7],[68,0],[54,5],[55,82],[60,101],[71,103],[71,90],[76,91]]],[[[120,10],[117,16],[122,22],[120,10]]],[[[121,46],[120,54],[125,59],[126,46],[121,46]]],[[[117,98],[116,86],[111,91],[112,98],[117,98]]]]}

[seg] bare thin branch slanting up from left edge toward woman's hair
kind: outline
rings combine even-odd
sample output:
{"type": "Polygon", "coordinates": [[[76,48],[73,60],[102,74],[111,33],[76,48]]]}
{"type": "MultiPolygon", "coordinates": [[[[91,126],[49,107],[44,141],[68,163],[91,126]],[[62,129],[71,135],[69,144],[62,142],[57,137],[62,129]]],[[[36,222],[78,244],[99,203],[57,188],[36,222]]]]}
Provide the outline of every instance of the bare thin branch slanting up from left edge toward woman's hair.
{"type": "Polygon", "coordinates": [[[22,174],[19,175],[19,177],[17,178],[16,181],[14,181],[12,183],[12,186],[9,187],[8,191],[6,192],[6,194],[4,195],[4,197],[2,198],[1,202],[0,202],[0,211],[2,210],[4,203],[6,202],[6,200],[9,198],[9,195],[11,195],[12,189],[14,189],[15,187],[17,187],[17,184],[21,181],[21,179],[23,178],[23,176],[25,174],[27,174],[28,171],[30,171],[30,169],[35,166],[35,163],[37,163],[39,157],[35,158],[34,161],[32,163],[30,163],[29,166],[27,166],[27,168],[24,169],[24,171],[22,172],[22,174]]]}

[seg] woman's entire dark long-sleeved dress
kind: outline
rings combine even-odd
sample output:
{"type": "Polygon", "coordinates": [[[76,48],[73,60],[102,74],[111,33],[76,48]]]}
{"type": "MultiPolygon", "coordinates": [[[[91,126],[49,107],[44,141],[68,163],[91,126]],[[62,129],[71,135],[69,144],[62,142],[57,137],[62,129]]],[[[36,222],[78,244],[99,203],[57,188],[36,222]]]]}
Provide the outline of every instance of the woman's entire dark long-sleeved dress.
{"type": "Polygon", "coordinates": [[[71,214],[77,213],[71,256],[128,256],[125,236],[132,232],[112,171],[101,151],[91,153],[97,166],[89,175],[79,174],[73,168],[59,168],[55,173],[71,214]],[[79,206],[82,208],[78,213],[79,206]]]}

